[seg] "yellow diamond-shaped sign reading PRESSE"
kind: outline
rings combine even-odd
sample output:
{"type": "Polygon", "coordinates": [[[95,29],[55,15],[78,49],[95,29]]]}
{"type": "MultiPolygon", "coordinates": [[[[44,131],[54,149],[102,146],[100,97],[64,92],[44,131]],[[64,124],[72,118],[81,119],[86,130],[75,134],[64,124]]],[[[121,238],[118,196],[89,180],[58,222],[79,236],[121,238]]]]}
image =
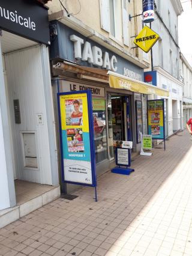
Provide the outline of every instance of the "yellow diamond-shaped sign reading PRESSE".
{"type": "Polygon", "coordinates": [[[144,52],[149,52],[149,50],[154,46],[160,36],[155,33],[148,26],[144,26],[139,35],[134,39],[134,43],[139,46],[144,52]]]}

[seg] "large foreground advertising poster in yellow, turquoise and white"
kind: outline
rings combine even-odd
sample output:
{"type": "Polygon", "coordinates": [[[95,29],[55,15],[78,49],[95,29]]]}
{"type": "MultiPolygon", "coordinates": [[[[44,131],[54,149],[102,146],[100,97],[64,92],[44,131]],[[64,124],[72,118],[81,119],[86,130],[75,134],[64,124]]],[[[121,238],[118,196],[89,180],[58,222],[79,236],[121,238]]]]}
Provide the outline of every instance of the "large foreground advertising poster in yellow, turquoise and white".
{"type": "Polygon", "coordinates": [[[88,93],[58,94],[62,164],[65,182],[95,186],[88,100],[88,93]]]}

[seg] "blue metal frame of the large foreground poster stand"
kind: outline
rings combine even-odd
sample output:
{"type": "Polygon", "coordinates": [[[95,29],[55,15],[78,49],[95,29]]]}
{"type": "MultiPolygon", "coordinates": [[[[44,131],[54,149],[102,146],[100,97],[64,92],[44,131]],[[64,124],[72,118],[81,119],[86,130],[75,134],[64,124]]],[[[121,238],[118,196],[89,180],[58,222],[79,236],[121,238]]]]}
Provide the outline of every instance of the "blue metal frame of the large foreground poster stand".
{"type": "Polygon", "coordinates": [[[95,147],[94,147],[94,121],[93,121],[93,115],[92,115],[92,95],[90,90],[85,91],[74,91],[74,92],[66,92],[66,93],[58,93],[58,114],[59,114],[59,135],[60,135],[60,150],[61,150],[61,175],[62,175],[62,181],[64,183],[69,184],[76,184],[80,186],[89,186],[89,187],[95,187],[95,201],[97,202],[97,177],[96,177],[96,166],[95,166],[95,147]],[[92,184],[87,183],[79,183],[75,181],[68,181],[65,180],[64,175],[64,152],[62,147],[62,126],[61,126],[61,106],[60,106],[60,96],[62,95],[73,95],[73,94],[83,94],[86,93],[87,95],[87,102],[88,102],[88,123],[89,123],[89,141],[90,141],[90,156],[91,156],[91,174],[92,174],[92,184]]]}

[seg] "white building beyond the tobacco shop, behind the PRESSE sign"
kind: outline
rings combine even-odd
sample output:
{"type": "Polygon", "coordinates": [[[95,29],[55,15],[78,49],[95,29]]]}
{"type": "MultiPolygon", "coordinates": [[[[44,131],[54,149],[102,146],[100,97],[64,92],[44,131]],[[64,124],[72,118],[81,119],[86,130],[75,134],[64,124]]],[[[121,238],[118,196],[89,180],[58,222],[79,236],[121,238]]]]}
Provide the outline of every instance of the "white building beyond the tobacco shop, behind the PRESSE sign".
{"type": "MultiPolygon", "coordinates": [[[[176,0],[156,0],[157,13],[152,29],[160,40],[152,47],[157,87],[169,90],[167,100],[167,135],[182,129],[182,83],[179,81],[178,15],[176,0]]],[[[181,11],[181,10],[180,10],[181,11]]],[[[160,97],[158,97],[160,98],[160,97]]]]}

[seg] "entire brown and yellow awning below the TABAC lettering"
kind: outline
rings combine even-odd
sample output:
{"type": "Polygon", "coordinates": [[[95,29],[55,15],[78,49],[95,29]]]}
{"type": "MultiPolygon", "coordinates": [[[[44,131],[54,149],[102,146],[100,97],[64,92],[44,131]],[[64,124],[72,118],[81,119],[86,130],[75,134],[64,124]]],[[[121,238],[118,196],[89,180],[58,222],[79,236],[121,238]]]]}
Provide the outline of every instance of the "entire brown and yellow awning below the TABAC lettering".
{"type": "Polygon", "coordinates": [[[79,75],[86,76],[86,79],[97,78],[102,79],[103,82],[109,83],[110,87],[116,89],[124,89],[133,91],[135,93],[143,94],[157,94],[158,96],[169,96],[169,91],[149,85],[145,82],[135,79],[127,78],[127,76],[120,75],[118,73],[108,71],[105,69],[96,69],[92,67],[79,66],[76,64],[58,62],[53,66],[53,69],[60,70],[61,72],[71,72],[79,75]]]}

